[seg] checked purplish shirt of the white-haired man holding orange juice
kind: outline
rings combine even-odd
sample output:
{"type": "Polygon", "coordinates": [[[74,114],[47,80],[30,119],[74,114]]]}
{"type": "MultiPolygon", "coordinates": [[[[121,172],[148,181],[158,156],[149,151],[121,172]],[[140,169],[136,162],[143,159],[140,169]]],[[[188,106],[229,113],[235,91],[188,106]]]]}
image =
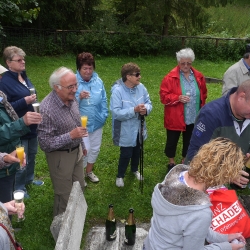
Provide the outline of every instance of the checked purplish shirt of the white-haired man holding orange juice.
{"type": "MultiPolygon", "coordinates": [[[[65,105],[53,90],[40,104],[42,122],[38,125],[38,141],[45,152],[70,149],[82,143],[82,139],[71,139],[70,132],[81,127],[79,107],[76,100],[65,105]]],[[[84,144],[82,144],[84,148],[84,144]]]]}

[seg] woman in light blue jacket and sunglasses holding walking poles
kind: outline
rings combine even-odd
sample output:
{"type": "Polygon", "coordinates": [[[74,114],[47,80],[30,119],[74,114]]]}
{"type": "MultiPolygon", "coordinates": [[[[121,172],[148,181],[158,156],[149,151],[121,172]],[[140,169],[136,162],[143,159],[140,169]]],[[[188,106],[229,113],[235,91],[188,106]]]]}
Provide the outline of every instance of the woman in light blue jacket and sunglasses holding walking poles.
{"type": "MultiPolygon", "coordinates": [[[[122,78],[117,80],[111,89],[110,110],[112,112],[113,142],[120,146],[120,159],[116,186],[124,186],[124,175],[131,161],[131,171],[138,180],[140,157],[139,134],[141,115],[149,115],[152,104],[147,89],[140,83],[141,73],[138,65],[127,63],[121,69],[122,78]]],[[[144,123],[143,140],[147,138],[144,123]]]]}

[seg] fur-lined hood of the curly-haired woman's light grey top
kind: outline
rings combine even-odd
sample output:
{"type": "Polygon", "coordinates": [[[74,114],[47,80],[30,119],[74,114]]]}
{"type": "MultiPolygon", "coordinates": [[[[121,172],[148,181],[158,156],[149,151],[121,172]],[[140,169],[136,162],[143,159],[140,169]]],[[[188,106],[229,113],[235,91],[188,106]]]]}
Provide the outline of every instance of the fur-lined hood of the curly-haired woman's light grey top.
{"type": "Polygon", "coordinates": [[[207,194],[179,181],[179,174],[186,170],[186,165],[175,166],[165,180],[155,186],[151,203],[156,214],[176,216],[211,206],[207,194]]]}

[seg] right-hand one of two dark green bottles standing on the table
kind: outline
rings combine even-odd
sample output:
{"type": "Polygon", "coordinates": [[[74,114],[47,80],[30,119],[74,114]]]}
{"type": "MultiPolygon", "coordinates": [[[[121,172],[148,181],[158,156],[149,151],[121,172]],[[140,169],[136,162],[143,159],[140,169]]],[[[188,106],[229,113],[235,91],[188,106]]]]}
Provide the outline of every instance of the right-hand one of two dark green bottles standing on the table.
{"type": "Polygon", "coordinates": [[[135,234],[136,234],[136,226],[134,219],[134,209],[129,209],[128,220],[125,225],[125,244],[126,245],[134,245],[135,244],[135,234]]]}

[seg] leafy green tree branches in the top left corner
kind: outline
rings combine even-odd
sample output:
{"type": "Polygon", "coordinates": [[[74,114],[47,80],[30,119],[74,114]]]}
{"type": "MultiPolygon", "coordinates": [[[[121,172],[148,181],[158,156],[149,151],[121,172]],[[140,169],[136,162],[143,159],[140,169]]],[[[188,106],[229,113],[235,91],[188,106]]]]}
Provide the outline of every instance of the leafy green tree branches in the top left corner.
{"type": "Polygon", "coordinates": [[[0,34],[2,25],[21,25],[36,19],[40,8],[36,0],[0,0],[0,34]]]}

